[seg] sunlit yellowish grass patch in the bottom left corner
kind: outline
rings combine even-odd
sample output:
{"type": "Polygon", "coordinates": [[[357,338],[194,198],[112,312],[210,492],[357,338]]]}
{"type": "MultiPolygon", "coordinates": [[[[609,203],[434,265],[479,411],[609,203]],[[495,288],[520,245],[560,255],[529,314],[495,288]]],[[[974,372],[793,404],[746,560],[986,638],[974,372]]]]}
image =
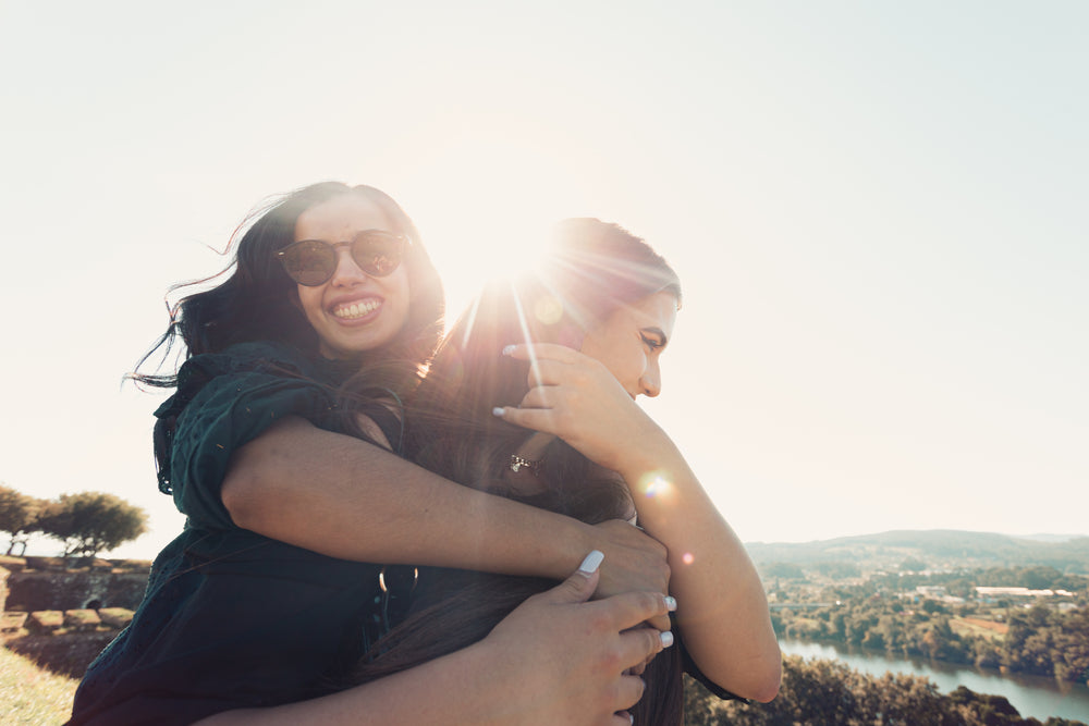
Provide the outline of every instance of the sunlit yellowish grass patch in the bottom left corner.
{"type": "Polygon", "coordinates": [[[4,724],[63,724],[72,713],[78,685],[75,678],[53,675],[0,647],[0,714],[4,724]]]}

